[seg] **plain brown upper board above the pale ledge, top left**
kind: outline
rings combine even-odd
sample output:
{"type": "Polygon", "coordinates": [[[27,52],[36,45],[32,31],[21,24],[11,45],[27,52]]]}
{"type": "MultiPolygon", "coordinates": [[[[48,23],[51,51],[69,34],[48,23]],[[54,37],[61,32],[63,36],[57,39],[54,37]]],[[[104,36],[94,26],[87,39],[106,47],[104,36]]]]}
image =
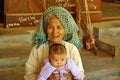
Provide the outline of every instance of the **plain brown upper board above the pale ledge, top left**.
{"type": "Polygon", "coordinates": [[[5,0],[5,14],[8,13],[35,13],[45,10],[43,0],[5,0]],[[30,2],[28,2],[30,1],[30,2]]]}

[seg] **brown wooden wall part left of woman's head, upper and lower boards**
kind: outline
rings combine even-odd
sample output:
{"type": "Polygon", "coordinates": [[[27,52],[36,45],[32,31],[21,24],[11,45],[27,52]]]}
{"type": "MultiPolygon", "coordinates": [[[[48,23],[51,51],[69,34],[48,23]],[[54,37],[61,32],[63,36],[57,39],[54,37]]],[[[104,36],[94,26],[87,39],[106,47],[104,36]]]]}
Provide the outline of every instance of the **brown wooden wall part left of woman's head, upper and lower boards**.
{"type": "Polygon", "coordinates": [[[43,0],[5,0],[6,27],[34,26],[45,10],[43,5],[43,0]]]}

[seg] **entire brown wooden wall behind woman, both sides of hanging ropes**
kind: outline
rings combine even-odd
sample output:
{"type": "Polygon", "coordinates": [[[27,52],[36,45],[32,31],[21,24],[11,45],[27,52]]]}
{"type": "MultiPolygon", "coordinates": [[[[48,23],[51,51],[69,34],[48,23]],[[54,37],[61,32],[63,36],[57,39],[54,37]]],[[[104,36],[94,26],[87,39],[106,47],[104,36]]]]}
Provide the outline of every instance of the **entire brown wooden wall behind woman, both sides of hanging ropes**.
{"type": "MultiPolygon", "coordinates": [[[[42,12],[53,5],[63,6],[75,17],[76,0],[4,0],[5,27],[35,26],[42,12]]],[[[79,0],[84,14],[84,0],[79,0]]],[[[101,18],[101,0],[88,0],[92,21],[101,18]],[[92,11],[92,12],[91,12],[92,11]]]]}

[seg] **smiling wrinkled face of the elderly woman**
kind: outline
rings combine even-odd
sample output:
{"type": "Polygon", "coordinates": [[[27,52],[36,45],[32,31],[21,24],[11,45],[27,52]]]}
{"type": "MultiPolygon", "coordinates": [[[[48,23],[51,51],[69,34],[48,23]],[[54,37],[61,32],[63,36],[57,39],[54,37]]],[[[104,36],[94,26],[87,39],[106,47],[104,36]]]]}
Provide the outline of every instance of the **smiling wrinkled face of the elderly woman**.
{"type": "Polygon", "coordinates": [[[52,17],[47,26],[47,36],[52,43],[61,43],[64,36],[64,27],[57,17],[52,17]]]}

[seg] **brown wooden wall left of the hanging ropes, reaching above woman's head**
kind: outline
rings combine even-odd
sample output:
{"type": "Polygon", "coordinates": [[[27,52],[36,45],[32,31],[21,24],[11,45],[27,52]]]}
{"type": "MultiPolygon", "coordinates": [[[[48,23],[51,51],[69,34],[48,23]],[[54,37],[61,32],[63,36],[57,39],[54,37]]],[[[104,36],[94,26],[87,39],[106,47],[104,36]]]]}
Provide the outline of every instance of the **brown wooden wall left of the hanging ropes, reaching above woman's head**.
{"type": "Polygon", "coordinates": [[[34,26],[42,12],[52,5],[75,13],[75,0],[5,0],[5,27],[34,26]]]}

